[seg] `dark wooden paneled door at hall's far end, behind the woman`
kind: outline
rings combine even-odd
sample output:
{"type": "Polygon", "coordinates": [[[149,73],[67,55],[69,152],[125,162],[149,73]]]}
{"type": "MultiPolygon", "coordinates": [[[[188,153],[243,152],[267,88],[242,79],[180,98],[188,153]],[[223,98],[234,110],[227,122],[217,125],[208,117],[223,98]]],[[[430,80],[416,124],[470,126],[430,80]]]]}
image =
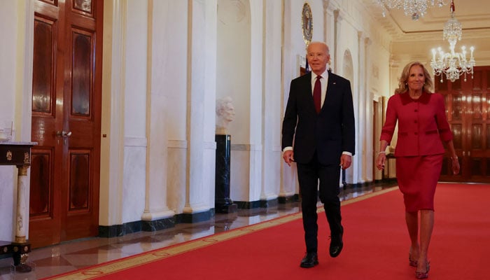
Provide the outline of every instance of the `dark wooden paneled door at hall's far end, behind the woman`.
{"type": "Polygon", "coordinates": [[[461,172],[451,175],[444,160],[441,181],[490,183],[490,66],[475,67],[474,78],[453,83],[435,79],[436,92],[444,94],[447,118],[454,134],[454,147],[461,172]]]}

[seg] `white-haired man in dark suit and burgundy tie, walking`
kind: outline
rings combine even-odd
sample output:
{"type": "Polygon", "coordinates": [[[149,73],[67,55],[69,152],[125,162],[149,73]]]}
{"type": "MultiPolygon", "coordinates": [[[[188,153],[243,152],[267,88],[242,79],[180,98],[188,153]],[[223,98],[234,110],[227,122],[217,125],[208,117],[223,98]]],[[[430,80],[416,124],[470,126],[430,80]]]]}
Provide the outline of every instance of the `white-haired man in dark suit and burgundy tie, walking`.
{"type": "Polygon", "coordinates": [[[330,256],[337,257],[344,246],[339,179],[340,169],[351,166],[355,128],[351,83],[327,71],[328,45],[310,43],[307,59],[311,72],[295,78],[290,84],[282,148],[284,161],[288,165],[296,162],[300,183],[307,248],[300,266],[314,267],[318,264],[318,190],[330,226],[330,256]]]}

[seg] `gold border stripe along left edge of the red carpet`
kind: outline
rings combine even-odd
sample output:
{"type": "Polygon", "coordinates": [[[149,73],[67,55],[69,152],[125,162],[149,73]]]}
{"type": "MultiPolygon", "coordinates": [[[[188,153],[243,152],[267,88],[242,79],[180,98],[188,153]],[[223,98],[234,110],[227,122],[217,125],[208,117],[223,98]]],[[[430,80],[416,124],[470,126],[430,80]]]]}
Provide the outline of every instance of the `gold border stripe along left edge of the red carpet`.
{"type": "MultiPolygon", "coordinates": [[[[342,206],[347,204],[352,204],[355,202],[360,202],[362,200],[367,200],[368,198],[382,195],[384,193],[391,192],[392,190],[397,190],[398,187],[392,187],[385,190],[379,190],[374,193],[367,195],[362,195],[350,200],[346,200],[341,203],[342,206]]],[[[318,212],[324,211],[323,207],[318,207],[318,212]]],[[[155,262],[158,260],[163,260],[165,258],[170,258],[174,255],[180,255],[182,253],[187,253],[190,251],[197,250],[199,248],[204,248],[212,244],[216,244],[229,239],[234,239],[241,237],[243,235],[248,235],[251,232],[257,232],[259,230],[265,230],[266,228],[271,228],[276,225],[281,225],[283,223],[288,223],[290,221],[297,220],[301,218],[301,212],[290,214],[288,216],[283,216],[281,218],[276,218],[271,221],[266,221],[263,223],[258,223],[254,225],[249,225],[244,228],[237,228],[236,230],[231,230],[229,232],[219,233],[217,235],[210,235],[201,239],[196,239],[193,241],[188,241],[184,244],[178,244],[176,246],[169,246],[146,253],[140,253],[139,255],[134,255],[129,258],[124,258],[122,260],[115,260],[106,265],[95,265],[94,267],[89,267],[86,269],[76,270],[69,274],[63,274],[61,276],[54,276],[50,279],[73,279],[73,280],[85,280],[92,279],[94,276],[102,276],[110,273],[119,272],[124,269],[130,269],[132,267],[137,267],[139,265],[144,265],[149,262],[155,262]]]]}

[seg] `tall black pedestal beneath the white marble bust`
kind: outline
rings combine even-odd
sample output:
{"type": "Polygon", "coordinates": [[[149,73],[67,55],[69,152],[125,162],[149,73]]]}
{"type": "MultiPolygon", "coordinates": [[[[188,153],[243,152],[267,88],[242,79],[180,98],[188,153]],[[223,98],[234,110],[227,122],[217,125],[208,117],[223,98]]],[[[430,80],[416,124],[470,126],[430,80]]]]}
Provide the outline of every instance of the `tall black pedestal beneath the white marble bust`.
{"type": "Polygon", "coordinates": [[[237,204],[230,200],[230,145],[229,134],[216,134],[216,171],[214,207],[216,213],[235,213],[237,204]]]}

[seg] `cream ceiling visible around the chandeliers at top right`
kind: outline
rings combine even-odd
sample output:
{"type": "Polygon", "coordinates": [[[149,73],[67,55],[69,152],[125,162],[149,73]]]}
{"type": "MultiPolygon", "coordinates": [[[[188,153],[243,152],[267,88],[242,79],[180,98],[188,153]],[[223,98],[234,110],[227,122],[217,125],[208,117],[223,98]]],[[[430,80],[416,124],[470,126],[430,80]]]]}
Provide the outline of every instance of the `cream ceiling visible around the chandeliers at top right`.
{"type": "MultiPolygon", "coordinates": [[[[442,31],[444,23],[449,20],[450,1],[448,5],[438,7],[430,6],[426,15],[419,20],[412,20],[403,10],[389,10],[386,17],[381,15],[381,8],[376,0],[364,0],[366,6],[373,13],[374,18],[382,22],[384,27],[397,35],[423,34],[442,31]]],[[[471,31],[490,31],[490,1],[489,0],[455,0],[455,18],[463,25],[463,37],[471,31]]]]}

